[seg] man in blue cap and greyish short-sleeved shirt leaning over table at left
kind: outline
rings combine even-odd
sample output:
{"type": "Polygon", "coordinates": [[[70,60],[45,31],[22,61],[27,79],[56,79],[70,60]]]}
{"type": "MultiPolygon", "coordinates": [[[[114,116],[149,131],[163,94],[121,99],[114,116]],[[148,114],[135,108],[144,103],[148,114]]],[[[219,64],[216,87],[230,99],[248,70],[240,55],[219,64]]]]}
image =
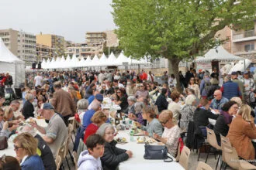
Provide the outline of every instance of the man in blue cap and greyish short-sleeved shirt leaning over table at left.
{"type": "Polygon", "coordinates": [[[42,104],[40,114],[43,118],[49,121],[47,128],[43,128],[36,124],[36,121],[31,122],[30,124],[33,128],[40,131],[41,134],[45,134],[42,138],[47,142],[54,158],[56,158],[57,150],[61,148],[61,145],[64,144],[64,141],[67,138],[67,128],[62,118],[54,112],[54,107],[51,104],[42,104]]]}

